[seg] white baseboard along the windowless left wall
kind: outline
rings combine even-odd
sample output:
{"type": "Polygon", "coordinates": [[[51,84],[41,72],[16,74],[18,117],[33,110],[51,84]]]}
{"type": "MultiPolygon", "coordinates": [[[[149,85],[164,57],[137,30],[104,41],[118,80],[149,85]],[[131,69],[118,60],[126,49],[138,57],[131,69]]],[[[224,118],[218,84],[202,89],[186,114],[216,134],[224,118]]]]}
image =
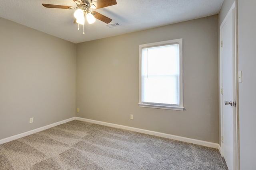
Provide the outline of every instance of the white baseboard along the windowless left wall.
{"type": "Polygon", "coordinates": [[[66,120],[63,120],[63,121],[58,121],[56,123],[52,123],[52,124],[46,125],[44,127],[39,127],[37,129],[31,130],[31,131],[27,131],[27,132],[24,132],[24,133],[20,133],[18,135],[14,135],[14,136],[11,136],[11,137],[8,137],[8,138],[1,139],[0,140],[0,144],[6,143],[6,142],[10,142],[10,141],[13,141],[15,139],[19,139],[21,137],[25,137],[25,136],[31,135],[33,133],[37,133],[37,132],[49,129],[51,127],[54,127],[54,126],[57,126],[57,125],[60,125],[60,124],[63,124],[63,123],[67,123],[67,122],[75,120],[75,119],[76,119],[76,117],[72,117],[70,119],[66,119],[66,120]]]}

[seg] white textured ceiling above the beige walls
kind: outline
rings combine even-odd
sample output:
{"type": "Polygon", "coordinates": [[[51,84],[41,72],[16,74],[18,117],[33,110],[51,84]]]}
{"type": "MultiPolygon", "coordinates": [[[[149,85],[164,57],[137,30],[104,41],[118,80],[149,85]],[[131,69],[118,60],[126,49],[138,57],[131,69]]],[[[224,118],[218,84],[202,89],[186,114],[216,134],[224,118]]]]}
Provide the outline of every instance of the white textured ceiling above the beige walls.
{"type": "MultiPolygon", "coordinates": [[[[94,0],[93,0],[94,1],[94,0]]],[[[118,27],[107,27],[96,20],[78,31],[74,10],[45,8],[44,4],[76,7],[73,0],[1,0],[0,17],[56,37],[80,43],[143,29],[168,25],[218,14],[224,0],[116,0],[117,5],[95,10],[118,27]]],[[[1,25],[1,23],[0,23],[1,25]]]]}

